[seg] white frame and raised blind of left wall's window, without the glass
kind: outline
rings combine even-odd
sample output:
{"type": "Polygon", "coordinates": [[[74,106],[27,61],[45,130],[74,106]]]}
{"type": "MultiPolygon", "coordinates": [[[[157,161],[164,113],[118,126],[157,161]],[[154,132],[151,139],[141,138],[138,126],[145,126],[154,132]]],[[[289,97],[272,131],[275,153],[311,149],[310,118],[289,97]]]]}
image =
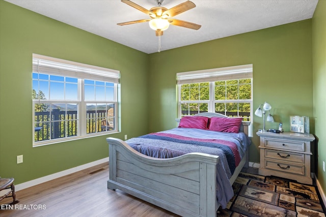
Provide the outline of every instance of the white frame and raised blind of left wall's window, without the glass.
{"type": "MultiPolygon", "coordinates": [[[[76,63],[69,60],[53,58],[49,56],[44,56],[40,54],[33,54],[33,73],[48,74],[48,75],[58,75],[63,77],[72,77],[78,79],[77,91],[78,99],[75,101],[71,100],[35,100],[33,99],[33,147],[53,144],[64,141],[71,141],[75,139],[89,138],[94,136],[113,134],[119,132],[121,128],[118,123],[119,114],[119,95],[120,95],[120,71],[106,69],[102,67],[91,66],[87,64],[76,63]],[[85,80],[95,80],[114,83],[114,99],[112,101],[85,101],[84,98],[84,81],[85,80]],[[37,103],[73,103],[77,104],[77,136],[54,138],[49,140],[35,141],[35,104],[37,103]],[[113,104],[114,105],[114,130],[95,132],[87,134],[87,121],[86,121],[86,105],[88,103],[98,103],[98,104],[113,104]]],[[[107,111],[106,111],[107,113],[107,111]]],[[[106,114],[107,116],[107,114],[106,114]]],[[[49,121],[50,124],[52,123],[49,121]]]]}

